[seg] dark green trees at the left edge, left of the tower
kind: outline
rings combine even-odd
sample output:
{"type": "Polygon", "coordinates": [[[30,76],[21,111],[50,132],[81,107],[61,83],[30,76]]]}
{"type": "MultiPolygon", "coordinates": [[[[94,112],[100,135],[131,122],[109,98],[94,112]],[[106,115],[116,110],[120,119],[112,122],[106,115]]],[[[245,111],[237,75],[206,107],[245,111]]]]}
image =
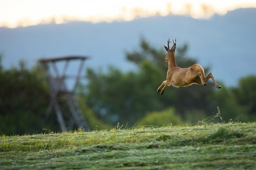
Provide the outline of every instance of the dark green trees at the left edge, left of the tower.
{"type": "Polygon", "coordinates": [[[58,130],[55,117],[45,120],[48,104],[48,88],[38,66],[29,70],[20,61],[18,68],[0,69],[0,134],[58,130]]]}

